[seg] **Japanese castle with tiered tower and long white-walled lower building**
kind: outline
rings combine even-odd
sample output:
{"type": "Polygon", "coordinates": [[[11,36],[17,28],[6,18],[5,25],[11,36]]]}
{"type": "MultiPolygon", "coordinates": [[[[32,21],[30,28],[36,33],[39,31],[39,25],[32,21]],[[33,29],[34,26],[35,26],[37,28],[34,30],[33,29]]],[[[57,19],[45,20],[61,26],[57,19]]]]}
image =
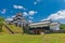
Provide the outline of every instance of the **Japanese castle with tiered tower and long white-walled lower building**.
{"type": "Polygon", "coordinates": [[[43,34],[44,31],[60,30],[60,23],[51,20],[43,20],[39,23],[28,23],[22,13],[17,13],[12,20],[6,20],[8,24],[14,24],[17,27],[23,28],[24,33],[43,34]]]}

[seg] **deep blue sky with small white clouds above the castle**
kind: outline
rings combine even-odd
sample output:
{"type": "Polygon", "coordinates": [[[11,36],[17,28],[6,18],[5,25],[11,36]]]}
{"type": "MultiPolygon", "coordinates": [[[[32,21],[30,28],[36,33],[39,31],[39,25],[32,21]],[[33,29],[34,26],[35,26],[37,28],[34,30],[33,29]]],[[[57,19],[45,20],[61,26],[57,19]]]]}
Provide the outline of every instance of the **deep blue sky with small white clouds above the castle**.
{"type": "Polygon", "coordinates": [[[0,16],[5,18],[22,12],[29,22],[40,22],[62,10],[65,0],[0,0],[0,16]]]}

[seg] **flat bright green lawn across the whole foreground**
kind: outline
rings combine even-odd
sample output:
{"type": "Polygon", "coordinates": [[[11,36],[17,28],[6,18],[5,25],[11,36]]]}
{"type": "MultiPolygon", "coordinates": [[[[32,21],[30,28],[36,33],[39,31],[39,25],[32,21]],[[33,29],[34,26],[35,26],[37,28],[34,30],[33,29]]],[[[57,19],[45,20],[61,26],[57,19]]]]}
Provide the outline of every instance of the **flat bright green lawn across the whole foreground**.
{"type": "Polygon", "coordinates": [[[65,33],[55,34],[0,34],[0,43],[65,43],[65,33]]]}

